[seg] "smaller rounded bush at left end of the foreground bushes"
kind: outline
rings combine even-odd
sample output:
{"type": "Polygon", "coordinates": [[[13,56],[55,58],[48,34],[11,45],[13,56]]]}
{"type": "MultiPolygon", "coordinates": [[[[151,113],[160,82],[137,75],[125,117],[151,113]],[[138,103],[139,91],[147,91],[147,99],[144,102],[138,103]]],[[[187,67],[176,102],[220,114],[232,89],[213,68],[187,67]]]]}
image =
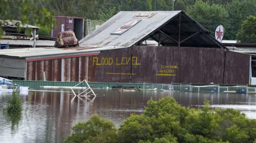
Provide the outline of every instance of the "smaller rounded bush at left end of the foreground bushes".
{"type": "Polygon", "coordinates": [[[77,123],[64,142],[114,143],[116,134],[117,129],[112,122],[93,115],[87,122],[77,123]]]}

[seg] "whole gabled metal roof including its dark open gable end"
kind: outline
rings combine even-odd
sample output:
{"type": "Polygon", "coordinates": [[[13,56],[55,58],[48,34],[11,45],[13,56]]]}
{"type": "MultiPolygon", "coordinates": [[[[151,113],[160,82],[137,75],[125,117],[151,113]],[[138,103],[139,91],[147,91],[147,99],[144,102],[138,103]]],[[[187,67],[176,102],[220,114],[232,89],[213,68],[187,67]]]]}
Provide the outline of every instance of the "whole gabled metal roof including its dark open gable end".
{"type": "Polygon", "coordinates": [[[79,43],[80,45],[130,47],[139,45],[146,38],[151,37],[157,42],[161,41],[162,46],[177,46],[180,14],[180,41],[186,39],[181,43],[181,47],[225,47],[208,30],[182,11],[121,11],[104,22],[91,34],[81,39],[79,43]],[[154,15],[150,18],[136,17],[140,13],[154,13],[154,15]],[[128,28],[122,34],[113,34],[120,27],[126,28],[127,22],[129,23],[131,20],[137,20],[136,25],[128,28]],[[160,38],[159,33],[161,33],[160,38]]]}

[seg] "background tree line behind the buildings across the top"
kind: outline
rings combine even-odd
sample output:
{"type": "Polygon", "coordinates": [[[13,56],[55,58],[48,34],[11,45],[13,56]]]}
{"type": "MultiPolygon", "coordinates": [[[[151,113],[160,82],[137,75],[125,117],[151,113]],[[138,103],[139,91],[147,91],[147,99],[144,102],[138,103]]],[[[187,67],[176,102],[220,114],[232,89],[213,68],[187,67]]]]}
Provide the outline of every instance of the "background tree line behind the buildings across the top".
{"type": "MultiPolygon", "coordinates": [[[[76,16],[106,21],[119,11],[172,11],[172,7],[172,0],[0,1],[2,19],[17,19],[48,28],[51,28],[49,25],[52,21],[50,15],[76,16]]],[[[217,25],[223,25],[225,28],[224,39],[235,40],[243,21],[248,16],[256,16],[256,1],[175,0],[174,10],[185,11],[212,33],[217,25]]]]}

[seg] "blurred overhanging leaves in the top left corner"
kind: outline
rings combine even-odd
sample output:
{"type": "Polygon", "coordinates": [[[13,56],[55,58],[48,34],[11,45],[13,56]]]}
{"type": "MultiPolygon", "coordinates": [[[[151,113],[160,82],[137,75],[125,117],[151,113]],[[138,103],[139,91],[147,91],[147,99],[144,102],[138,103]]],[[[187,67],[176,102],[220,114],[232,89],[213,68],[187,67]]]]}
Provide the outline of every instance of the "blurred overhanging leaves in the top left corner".
{"type": "MultiPolygon", "coordinates": [[[[47,0],[1,0],[1,19],[20,20],[27,24],[38,23],[50,30],[55,20],[45,8],[47,2],[47,0]]],[[[30,33],[29,30],[31,29],[27,28],[26,30],[26,33],[30,33]]],[[[1,32],[2,28],[0,27],[0,35],[2,35],[1,32]]]]}

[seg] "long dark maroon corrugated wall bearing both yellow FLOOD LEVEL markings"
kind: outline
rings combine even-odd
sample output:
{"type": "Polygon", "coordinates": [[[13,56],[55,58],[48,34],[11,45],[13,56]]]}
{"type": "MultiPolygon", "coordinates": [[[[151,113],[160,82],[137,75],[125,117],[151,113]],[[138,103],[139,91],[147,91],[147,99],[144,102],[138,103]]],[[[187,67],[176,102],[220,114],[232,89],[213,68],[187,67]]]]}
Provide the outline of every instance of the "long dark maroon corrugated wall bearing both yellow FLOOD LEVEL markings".
{"type": "Polygon", "coordinates": [[[217,48],[133,46],[90,56],[89,65],[94,72],[88,78],[96,77],[90,82],[248,84],[250,54],[217,48]]]}

